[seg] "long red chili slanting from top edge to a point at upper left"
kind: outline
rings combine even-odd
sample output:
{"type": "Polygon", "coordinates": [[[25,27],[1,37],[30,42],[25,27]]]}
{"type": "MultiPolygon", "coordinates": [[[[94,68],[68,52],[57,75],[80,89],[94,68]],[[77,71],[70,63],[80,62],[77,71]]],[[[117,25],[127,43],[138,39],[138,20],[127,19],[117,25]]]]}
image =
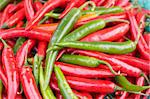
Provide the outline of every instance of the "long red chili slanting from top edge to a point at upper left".
{"type": "Polygon", "coordinates": [[[52,0],[46,2],[44,6],[36,13],[32,20],[29,21],[27,24],[26,30],[31,29],[33,26],[38,24],[38,22],[42,19],[42,17],[49,11],[53,10],[54,8],[60,6],[61,4],[65,4],[67,0],[56,0],[53,2],[52,0]]]}

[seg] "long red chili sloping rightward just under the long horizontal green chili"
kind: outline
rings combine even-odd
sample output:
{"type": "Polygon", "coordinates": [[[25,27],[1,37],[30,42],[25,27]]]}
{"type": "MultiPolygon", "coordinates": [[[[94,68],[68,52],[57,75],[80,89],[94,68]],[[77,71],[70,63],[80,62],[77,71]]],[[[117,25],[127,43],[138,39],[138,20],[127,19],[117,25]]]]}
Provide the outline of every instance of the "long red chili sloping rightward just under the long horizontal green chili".
{"type": "Polygon", "coordinates": [[[100,60],[107,61],[111,65],[121,66],[120,71],[126,73],[128,76],[139,77],[141,75],[141,70],[139,68],[133,67],[132,65],[129,65],[123,61],[112,58],[111,55],[95,52],[95,51],[85,51],[85,50],[76,50],[75,53],[90,56],[90,57],[95,57],[100,60]]]}

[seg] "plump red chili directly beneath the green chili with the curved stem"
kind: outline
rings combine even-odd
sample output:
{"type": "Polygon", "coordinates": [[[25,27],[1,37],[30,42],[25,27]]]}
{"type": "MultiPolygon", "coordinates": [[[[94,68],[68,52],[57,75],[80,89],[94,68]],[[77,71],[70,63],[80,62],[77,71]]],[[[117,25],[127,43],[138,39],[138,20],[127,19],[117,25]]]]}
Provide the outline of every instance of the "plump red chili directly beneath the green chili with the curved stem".
{"type": "Polygon", "coordinates": [[[115,76],[109,70],[99,68],[82,67],[62,62],[55,62],[55,65],[59,66],[63,73],[68,76],[83,78],[107,78],[115,76]]]}

